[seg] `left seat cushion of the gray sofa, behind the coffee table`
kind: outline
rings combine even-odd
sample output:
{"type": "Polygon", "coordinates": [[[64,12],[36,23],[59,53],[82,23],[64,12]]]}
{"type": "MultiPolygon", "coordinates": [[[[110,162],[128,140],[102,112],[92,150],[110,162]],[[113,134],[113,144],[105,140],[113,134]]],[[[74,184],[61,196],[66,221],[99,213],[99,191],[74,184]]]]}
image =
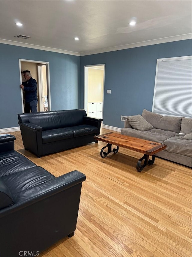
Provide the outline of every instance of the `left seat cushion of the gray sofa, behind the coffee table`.
{"type": "Polygon", "coordinates": [[[165,131],[165,130],[155,129],[155,128],[146,130],[146,131],[138,131],[131,128],[122,128],[121,134],[138,137],[141,139],[146,139],[146,140],[161,143],[161,144],[163,144],[163,142],[166,139],[177,135],[177,133],[172,131],[165,131]]]}

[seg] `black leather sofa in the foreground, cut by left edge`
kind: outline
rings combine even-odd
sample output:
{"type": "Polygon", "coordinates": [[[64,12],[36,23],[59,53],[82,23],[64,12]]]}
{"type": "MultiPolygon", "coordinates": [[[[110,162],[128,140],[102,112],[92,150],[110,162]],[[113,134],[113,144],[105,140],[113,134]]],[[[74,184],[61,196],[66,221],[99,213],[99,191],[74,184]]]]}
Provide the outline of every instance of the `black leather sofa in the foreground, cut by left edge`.
{"type": "Polygon", "coordinates": [[[0,136],[0,256],[38,256],[74,235],[85,175],[53,176],[14,151],[14,139],[0,136]]]}

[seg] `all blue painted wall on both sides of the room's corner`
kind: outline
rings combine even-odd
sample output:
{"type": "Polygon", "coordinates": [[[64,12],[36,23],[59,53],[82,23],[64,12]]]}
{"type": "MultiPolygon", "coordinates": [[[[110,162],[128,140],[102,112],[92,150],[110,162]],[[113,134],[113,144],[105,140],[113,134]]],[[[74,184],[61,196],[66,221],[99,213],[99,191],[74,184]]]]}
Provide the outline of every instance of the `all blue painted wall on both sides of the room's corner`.
{"type": "Polygon", "coordinates": [[[83,108],[84,66],[105,63],[103,123],[122,128],[121,115],[152,110],[157,59],[187,55],[191,39],[81,57],[0,44],[0,128],[22,112],[19,59],[49,62],[52,110],[83,108]]]}

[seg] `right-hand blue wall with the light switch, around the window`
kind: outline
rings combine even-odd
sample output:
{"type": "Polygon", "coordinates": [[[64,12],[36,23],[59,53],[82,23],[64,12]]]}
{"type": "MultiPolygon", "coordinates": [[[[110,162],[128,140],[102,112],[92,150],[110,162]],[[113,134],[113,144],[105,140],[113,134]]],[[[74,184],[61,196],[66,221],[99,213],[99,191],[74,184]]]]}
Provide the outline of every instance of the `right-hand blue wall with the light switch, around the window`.
{"type": "Polygon", "coordinates": [[[152,111],[158,58],[192,55],[191,39],[80,57],[80,108],[84,101],[84,66],[105,64],[103,124],[124,127],[121,115],[152,111]],[[111,89],[111,94],[107,94],[111,89]]]}

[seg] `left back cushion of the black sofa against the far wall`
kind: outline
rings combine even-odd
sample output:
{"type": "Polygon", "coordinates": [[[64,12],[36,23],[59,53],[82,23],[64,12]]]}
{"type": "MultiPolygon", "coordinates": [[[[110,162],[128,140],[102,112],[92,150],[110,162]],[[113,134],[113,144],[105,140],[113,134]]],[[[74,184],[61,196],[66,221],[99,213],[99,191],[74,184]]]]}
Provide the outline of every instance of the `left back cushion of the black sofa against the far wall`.
{"type": "Polygon", "coordinates": [[[43,128],[43,130],[61,128],[61,122],[57,111],[46,111],[37,113],[19,114],[19,121],[22,123],[29,122],[43,128]]]}

